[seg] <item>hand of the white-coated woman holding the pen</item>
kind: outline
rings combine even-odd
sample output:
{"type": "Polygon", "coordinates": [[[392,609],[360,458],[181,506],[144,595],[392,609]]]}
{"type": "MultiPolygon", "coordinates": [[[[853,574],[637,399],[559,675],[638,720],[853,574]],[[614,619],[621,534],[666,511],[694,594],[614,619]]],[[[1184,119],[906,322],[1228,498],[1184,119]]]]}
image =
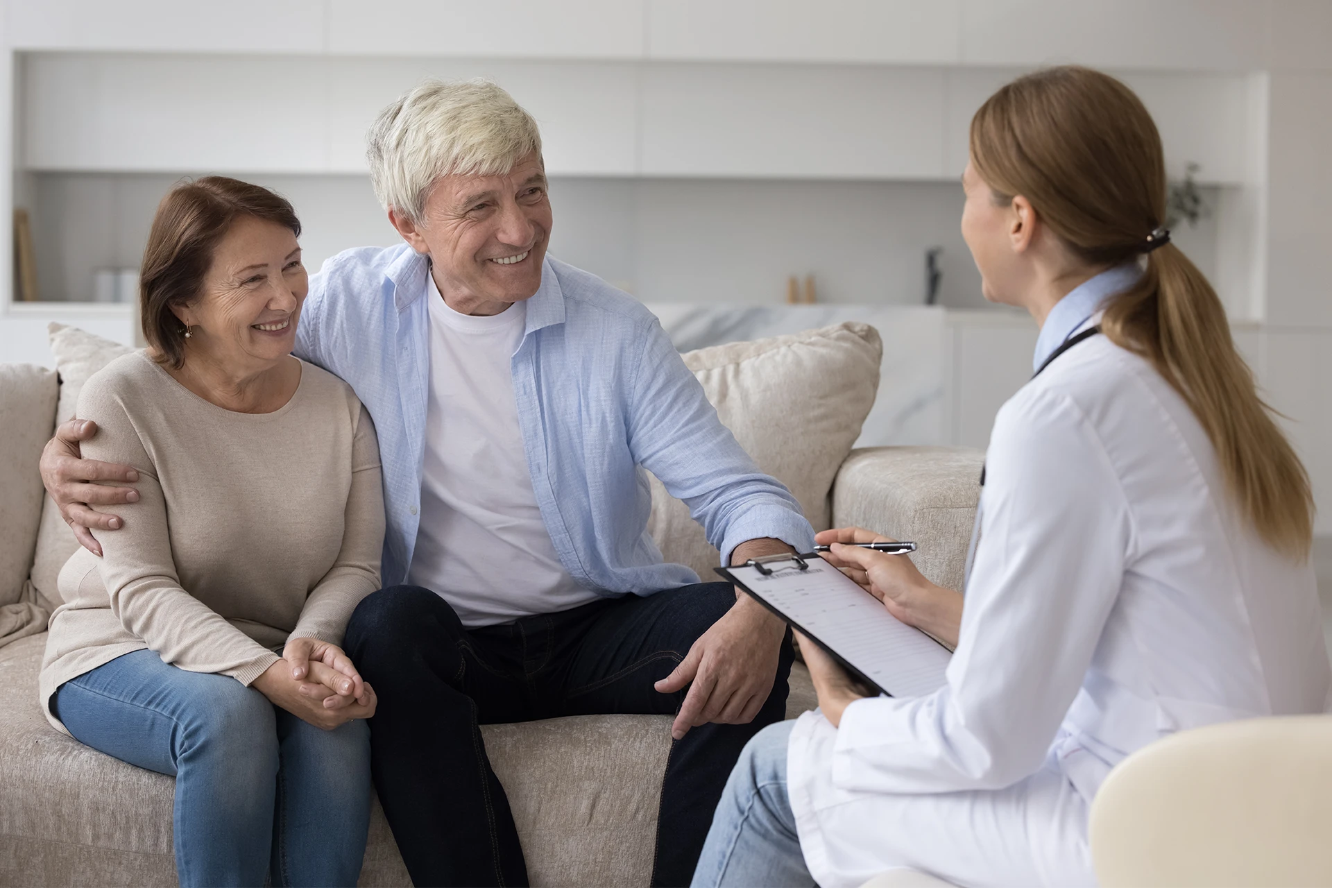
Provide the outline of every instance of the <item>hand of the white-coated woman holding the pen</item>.
{"type": "Polygon", "coordinates": [[[847,543],[891,543],[863,527],[821,531],[814,542],[831,546],[823,554],[834,567],[883,602],[888,612],[907,626],[928,632],[950,648],[958,646],[962,626],[962,594],[931,583],[907,555],[890,555],[847,543]]]}

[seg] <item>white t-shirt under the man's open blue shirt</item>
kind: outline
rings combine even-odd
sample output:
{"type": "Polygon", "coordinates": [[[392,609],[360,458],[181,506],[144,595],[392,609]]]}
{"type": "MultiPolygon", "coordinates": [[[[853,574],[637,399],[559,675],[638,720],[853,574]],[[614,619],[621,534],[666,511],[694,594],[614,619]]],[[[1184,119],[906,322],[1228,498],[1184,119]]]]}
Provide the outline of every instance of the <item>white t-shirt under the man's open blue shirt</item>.
{"type": "Polygon", "coordinates": [[[428,276],[430,393],[421,526],[408,582],[433,590],[464,626],[554,614],[597,598],[555,555],[518,427],[510,359],[527,309],[450,309],[428,276]]]}

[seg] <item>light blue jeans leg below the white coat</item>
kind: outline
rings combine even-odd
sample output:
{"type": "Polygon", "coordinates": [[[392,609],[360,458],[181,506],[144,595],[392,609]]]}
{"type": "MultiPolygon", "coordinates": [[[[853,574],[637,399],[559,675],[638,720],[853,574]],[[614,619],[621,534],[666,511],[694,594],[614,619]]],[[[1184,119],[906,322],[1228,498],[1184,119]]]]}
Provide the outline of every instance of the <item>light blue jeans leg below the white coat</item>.
{"type": "Polygon", "coordinates": [[[795,722],[771,724],[735,763],[690,888],[813,888],[786,792],[795,722]]]}

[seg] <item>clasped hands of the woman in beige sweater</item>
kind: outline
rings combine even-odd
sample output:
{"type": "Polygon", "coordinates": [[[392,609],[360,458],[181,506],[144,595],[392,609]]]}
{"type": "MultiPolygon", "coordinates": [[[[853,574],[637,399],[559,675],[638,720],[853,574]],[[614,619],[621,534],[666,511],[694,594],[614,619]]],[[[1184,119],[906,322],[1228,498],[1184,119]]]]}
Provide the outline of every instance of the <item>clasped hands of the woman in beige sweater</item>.
{"type": "Polygon", "coordinates": [[[293,638],[282,659],[257,679],[254,688],[304,722],[332,731],[374,715],[378,698],[342,648],[317,638],[293,638]]]}

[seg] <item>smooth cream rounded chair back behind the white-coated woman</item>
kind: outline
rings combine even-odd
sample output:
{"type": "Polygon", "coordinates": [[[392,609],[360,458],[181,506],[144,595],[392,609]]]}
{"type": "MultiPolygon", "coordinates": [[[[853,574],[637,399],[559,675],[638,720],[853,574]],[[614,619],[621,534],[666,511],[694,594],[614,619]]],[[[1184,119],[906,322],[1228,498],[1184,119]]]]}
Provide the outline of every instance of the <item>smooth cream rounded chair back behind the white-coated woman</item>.
{"type": "Polygon", "coordinates": [[[1091,808],[1102,888],[1332,885],[1332,716],[1248,719],[1158,740],[1091,808]]]}

